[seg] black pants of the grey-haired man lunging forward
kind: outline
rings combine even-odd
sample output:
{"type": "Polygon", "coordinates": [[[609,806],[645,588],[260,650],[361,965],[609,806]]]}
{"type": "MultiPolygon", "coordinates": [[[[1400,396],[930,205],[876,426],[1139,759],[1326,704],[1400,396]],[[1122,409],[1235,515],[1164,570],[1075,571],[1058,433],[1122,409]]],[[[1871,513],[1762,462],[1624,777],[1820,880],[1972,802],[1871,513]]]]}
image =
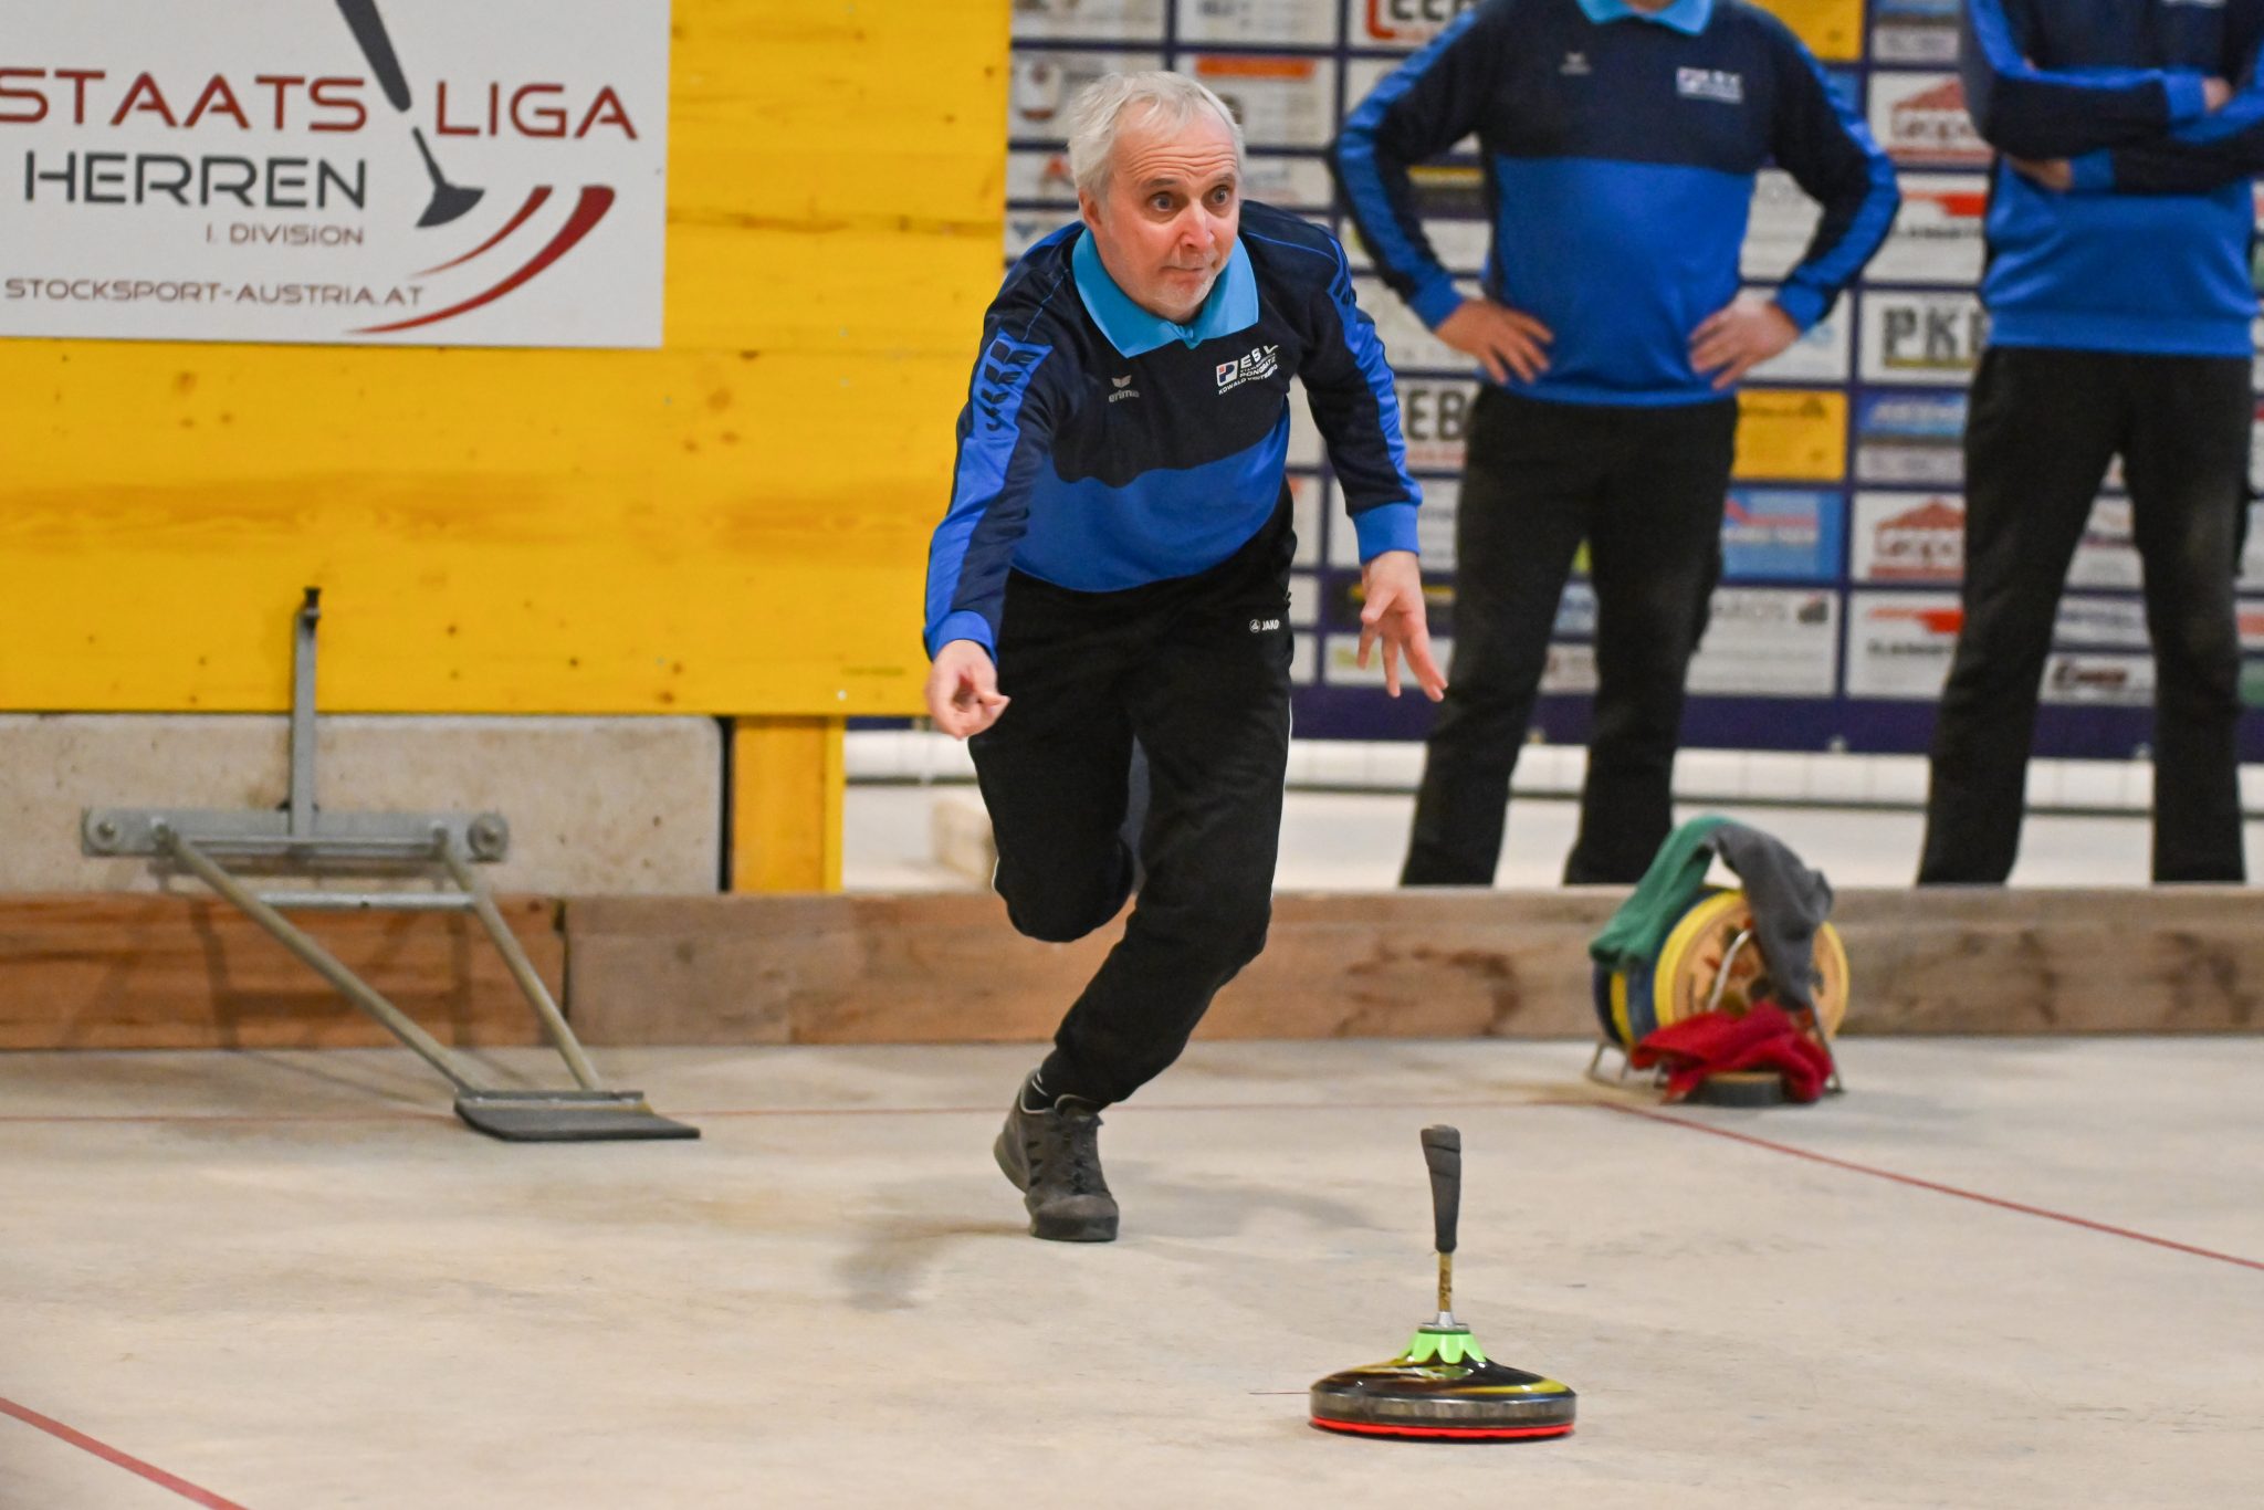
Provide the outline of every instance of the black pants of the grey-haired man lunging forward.
{"type": "Polygon", "coordinates": [[[1159,1075],[1266,946],[1288,767],[1288,507],[1195,577],[1071,593],[1014,575],[998,636],[1012,704],[971,740],[998,894],[1037,940],[1100,928],[1132,892],[1125,779],[1148,756],[1146,878],[1071,1005],[1046,1091],[1098,1105],[1159,1075]]]}

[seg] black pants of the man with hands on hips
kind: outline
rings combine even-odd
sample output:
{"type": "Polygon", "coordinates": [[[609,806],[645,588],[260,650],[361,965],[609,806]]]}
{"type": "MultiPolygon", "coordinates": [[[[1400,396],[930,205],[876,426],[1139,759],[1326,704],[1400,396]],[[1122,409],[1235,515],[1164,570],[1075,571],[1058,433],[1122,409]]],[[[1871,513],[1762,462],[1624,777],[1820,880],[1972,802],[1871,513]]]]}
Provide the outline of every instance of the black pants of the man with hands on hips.
{"type": "Polygon", "coordinates": [[[1736,403],[1540,403],[1469,414],[1453,521],[1453,666],[1431,729],[1401,885],[1492,885],[1510,772],[1585,539],[1596,718],[1567,883],[1637,881],[1673,829],[1682,681],[1721,580],[1736,403]]]}

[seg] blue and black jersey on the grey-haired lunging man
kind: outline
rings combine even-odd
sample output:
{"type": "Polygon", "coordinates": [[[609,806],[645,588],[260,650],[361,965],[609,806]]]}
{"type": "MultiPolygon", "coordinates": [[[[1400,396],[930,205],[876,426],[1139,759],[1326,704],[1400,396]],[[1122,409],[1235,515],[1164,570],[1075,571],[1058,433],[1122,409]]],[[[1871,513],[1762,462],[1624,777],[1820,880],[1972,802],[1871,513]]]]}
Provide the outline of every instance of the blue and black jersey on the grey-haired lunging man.
{"type": "Polygon", "coordinates": [[[1218,566],[1288,482],[1288,383],[1304,380],[1361,559],[1415,550],[1383,342],[1336,238],[1243,204],[1241,238],[1186,326],[1141,310],[1082,224],[1007,274],[983,317],[951,509],[928,548],[928,654],[998,647],[1007,570],[1107,593],[1218,566]]]}

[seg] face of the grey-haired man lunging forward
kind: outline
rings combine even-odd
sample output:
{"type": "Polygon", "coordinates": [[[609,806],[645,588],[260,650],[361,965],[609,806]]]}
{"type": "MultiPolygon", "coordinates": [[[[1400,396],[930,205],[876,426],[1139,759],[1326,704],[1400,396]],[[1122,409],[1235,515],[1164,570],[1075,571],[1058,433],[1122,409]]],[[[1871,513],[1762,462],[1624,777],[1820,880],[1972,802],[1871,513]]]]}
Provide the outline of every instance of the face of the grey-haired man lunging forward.
{"type": "Polygon", "coordinates": [[[1186,324],[1234,256],[1243,186],[1234,136],[1209,113],[1164,134],[1146,125],[1116,138],[1109,181],[1078,195],[1100,265],[1150,315],[1186,324]]]}

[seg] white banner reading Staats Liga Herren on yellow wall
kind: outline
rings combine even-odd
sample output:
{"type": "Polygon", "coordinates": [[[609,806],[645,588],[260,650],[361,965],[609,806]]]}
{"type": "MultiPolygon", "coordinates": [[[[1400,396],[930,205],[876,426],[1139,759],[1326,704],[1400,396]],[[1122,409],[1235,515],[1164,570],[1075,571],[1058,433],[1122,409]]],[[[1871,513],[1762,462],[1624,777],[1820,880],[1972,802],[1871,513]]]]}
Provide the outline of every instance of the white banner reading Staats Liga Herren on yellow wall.
{"type": "Polygon", "coordinates": [[[0,335],[659,346],[668,7],[11,7],[0,335]]]}

